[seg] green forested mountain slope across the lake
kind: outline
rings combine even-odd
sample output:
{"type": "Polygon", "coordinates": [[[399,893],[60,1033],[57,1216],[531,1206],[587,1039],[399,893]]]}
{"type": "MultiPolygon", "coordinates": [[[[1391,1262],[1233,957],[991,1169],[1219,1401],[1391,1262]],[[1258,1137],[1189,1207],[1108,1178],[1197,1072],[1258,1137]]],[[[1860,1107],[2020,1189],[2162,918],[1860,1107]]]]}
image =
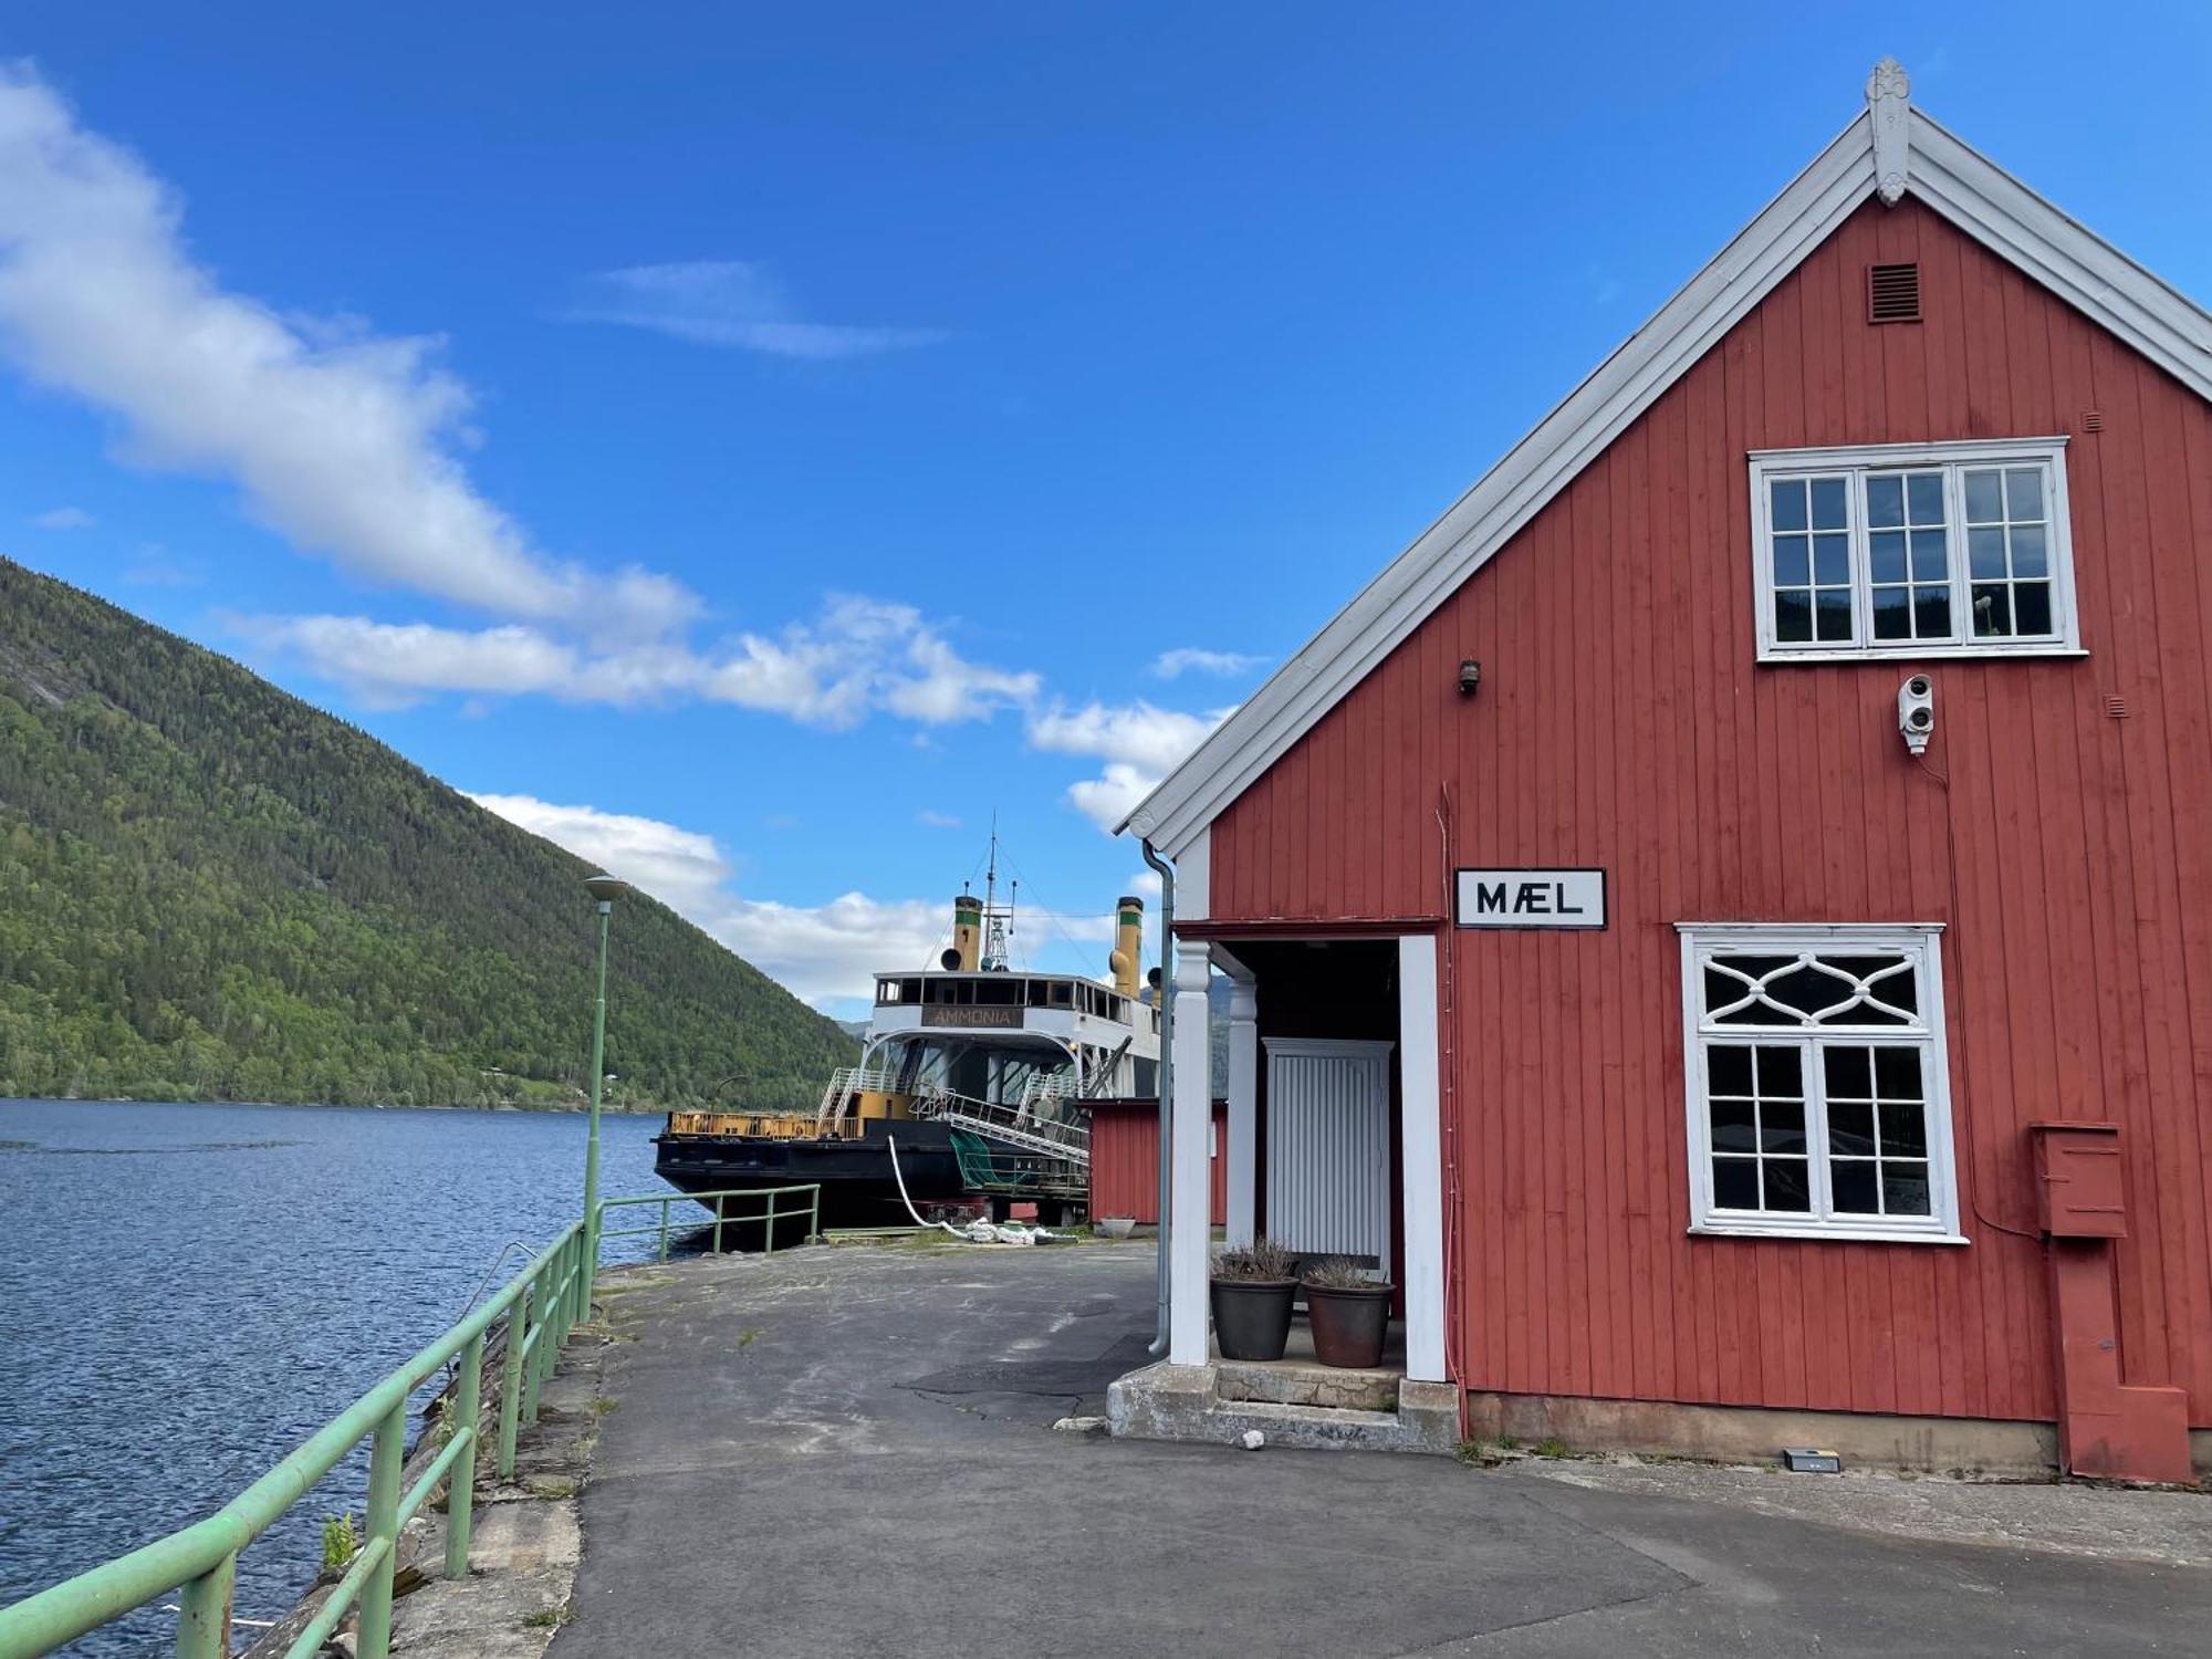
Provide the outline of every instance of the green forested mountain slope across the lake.
{"type": "MultiPolygon", "coordinates": [[[[0,1095],[573,1104],[586,874],[365,732],[0,560],[0,1095]]],[[[617,907],[606,1042],[626,1106],[812,1104],[856,1055],[644,896],[617,907]]]]}

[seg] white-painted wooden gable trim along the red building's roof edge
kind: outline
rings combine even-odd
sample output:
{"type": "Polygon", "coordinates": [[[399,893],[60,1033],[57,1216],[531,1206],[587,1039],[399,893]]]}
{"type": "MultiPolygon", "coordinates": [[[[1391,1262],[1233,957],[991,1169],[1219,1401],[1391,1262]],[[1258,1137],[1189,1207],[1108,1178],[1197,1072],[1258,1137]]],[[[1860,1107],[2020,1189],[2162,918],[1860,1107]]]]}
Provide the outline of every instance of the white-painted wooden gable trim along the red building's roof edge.
{"type": "Polygon", "coordinates": [[[1869,197],[1913,195],[2212,400],[2212,314],[1911,106],[1867,111],[1124,818],[1170,858],[1398,648],[1869,197]]]}

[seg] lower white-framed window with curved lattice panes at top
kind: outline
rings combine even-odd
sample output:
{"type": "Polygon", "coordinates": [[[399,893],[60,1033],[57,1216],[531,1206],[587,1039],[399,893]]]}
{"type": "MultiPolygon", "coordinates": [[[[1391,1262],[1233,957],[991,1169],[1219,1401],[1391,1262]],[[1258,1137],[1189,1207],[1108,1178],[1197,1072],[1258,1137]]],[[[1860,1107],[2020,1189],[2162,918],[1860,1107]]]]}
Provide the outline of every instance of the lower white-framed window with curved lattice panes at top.
{"type": "Polygon", "coordinates": [[[1964,1243],[1936,922],[1683,922],[1690,1230],[1964,1243]]]}

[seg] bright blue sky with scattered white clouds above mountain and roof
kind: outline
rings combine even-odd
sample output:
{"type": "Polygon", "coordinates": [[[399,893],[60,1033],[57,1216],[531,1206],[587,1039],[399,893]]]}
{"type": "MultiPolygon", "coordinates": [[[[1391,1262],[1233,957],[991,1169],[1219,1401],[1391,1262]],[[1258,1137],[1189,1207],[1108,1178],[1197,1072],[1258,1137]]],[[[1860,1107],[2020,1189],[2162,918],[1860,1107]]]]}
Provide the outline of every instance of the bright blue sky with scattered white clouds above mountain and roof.
{"type": "Polygon", "coordinates": [[[18,0],[0,553],[841,1011],[993,812],[1097,971],[1099,821],[1878,55],[2212,296],[2212,11],[2084,15],[18,0]]]}

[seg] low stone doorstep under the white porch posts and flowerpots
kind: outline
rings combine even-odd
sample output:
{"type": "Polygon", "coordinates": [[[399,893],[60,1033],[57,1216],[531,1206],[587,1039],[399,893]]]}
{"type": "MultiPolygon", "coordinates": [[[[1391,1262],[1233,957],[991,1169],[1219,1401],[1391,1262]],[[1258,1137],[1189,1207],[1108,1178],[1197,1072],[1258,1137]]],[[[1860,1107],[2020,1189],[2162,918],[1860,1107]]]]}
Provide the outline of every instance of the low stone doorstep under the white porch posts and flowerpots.
{"type": "Polygon", "coordinates": [[[1407,1383],[1391,1376],[1394,1409],[1378,1411],[1239,1398],[1223,1391],[1221,1369],[1161,1363],[1117,1378],[1106,1389],[1108,1429],[1128,1440],[1197,1440],[1228,1447],[1259,1429],[1267,1444],[1312,1451],[1451,1453],[1460,1440],[1460,1402],[1449,1383],[1407,1383]]]}

